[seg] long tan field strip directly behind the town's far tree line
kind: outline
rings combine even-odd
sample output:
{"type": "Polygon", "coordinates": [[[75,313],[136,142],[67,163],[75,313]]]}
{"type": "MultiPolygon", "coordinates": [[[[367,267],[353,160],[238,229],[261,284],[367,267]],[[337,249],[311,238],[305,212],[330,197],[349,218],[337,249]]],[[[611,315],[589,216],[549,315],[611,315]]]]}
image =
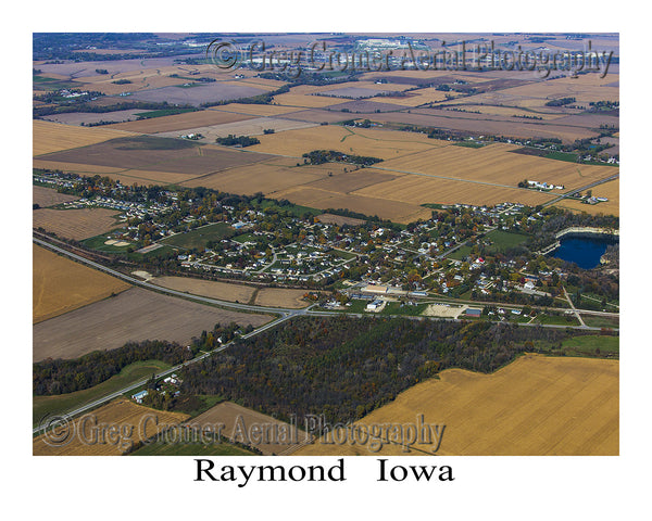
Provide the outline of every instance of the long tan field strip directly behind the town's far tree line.
{"type": "Polygon", "coordinates": [[[296,187],[274,194],[275,199],[310,206],[313,208],[349,208],[365,215],[377,215],[396,223],[412,223],[417,219],[429,219],[431,211],[416,204],[390,201],[360,194],[346,194],[310,187],[296,187]]]}

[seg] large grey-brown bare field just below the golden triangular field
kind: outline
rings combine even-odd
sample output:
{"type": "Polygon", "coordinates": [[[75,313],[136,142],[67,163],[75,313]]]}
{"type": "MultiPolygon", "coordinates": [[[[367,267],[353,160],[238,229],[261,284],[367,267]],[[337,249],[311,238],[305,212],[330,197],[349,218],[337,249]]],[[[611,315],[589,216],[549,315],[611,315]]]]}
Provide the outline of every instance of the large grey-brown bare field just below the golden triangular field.
{"type": "Polygon", "coordinates": [[[267,315],[221,309],[131,288],[34,326],[34,360],[76,358],[96,350],[114,350],[128,341],[188,343],[217,322],[258,327],[269,320],[267,315]]]}

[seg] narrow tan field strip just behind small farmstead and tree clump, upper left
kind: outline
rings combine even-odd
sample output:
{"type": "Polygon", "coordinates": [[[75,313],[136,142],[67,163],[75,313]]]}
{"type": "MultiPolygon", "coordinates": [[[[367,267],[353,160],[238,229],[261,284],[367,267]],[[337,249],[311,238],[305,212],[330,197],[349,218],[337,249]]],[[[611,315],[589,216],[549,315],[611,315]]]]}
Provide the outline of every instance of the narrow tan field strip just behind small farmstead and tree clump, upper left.
{"type": "Polygon", "coordinates": [[[224,123],[241,122],[244,119],[249,119],[249,116],[217,111],[197,111],[187,112],[185,114],[174,114],[172,116],[152,117],[139,122],[116,123],[115,125],[105,125],[104,128],[129,130],[131,132],[158,134],[174,130],[180,131],[208,125],[222,125],[224,123]]]}

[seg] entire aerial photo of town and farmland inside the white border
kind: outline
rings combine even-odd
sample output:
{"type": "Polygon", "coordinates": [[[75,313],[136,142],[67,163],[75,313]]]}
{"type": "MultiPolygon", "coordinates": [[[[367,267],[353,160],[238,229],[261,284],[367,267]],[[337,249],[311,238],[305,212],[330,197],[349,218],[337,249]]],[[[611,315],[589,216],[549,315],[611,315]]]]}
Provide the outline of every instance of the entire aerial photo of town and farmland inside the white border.
{"type": "Polygon", "coordinates": [[[619,454],[618,34],[34,33],[32,98],[35,456],[619,454]]]}

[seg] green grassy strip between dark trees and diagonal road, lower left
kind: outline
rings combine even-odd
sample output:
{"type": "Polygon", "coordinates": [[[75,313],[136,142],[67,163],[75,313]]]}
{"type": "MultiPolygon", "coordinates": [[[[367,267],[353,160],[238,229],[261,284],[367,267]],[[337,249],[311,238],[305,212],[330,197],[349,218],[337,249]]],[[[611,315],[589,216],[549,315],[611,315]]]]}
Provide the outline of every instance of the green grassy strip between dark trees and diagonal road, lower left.
{"type": "Polygon", "coordinates": [[[153,372],[170,369],[170,365],[160,360],[135,361],[123,368],[120,373],[111,377],[105,382],[74,393],[58,394],[53,396],[34,396],[32,407],[32,421],[36,425],[47,415],[62,415],[76,409],[85,404],[120,391],[127,385],[151,377],[153,372]]]}

